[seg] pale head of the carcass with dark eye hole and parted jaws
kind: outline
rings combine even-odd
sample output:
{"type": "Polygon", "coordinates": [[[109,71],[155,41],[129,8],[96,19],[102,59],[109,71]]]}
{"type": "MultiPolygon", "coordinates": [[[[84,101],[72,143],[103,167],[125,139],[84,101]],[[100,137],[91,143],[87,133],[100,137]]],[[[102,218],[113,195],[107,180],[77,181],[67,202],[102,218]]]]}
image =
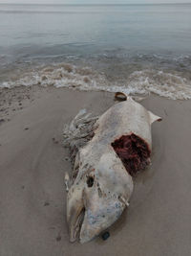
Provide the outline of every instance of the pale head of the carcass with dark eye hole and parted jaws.
{"type": "Polygon", "coordinates": [[[96,166],[82,164],[67,198],[71,242],[89,242],[111,226],[133,191],[133,181],[112,150],[102,154],[96,166]]]}

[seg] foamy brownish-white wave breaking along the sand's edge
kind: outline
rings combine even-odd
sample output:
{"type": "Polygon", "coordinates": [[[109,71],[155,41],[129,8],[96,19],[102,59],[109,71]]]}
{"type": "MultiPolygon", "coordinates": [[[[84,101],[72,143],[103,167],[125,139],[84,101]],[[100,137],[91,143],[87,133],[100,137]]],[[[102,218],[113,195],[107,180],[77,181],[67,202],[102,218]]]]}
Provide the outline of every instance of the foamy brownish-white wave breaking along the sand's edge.
{"type": "Polygon", "coordinates": [[[155,93],[173,100],[191,99],[191,81],[179,74],[159,70],[134,71],[127,80],[109,81],[104,73],[89,67],[78,67],[68,63],[54,64],[31,71],[22,77],[4,81],[0,87],[53,85],[84,91],[122,91],[129,95],[155,93]]]}

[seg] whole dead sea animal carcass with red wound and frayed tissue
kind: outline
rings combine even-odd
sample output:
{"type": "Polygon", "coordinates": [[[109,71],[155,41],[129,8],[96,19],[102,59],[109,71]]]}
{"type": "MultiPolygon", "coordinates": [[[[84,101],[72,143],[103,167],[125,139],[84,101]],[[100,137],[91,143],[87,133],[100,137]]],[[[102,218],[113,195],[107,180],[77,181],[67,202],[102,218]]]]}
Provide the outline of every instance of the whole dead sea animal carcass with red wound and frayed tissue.
{"type": "Polygon", "coordinates": [[[66,174],[70,240],[94,239],[129,205],[132,175],[150,163],[151,124],[161,120],[132,98],[109,108],[99,118],[84,110],[64,129],[74,171],[66,174]]]}

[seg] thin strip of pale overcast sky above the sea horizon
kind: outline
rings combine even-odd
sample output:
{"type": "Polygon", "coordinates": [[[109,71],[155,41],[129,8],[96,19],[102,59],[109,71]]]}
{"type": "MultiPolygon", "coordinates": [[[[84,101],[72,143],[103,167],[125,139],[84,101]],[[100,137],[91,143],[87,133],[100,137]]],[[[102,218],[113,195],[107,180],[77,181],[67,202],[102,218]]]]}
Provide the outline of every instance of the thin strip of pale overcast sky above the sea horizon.
{"type": "Polygon", "coordinates": [[[191,3],[191,0],[0,0],[0,3],[26,4],[157,4],[157,3],[191,3]]]}

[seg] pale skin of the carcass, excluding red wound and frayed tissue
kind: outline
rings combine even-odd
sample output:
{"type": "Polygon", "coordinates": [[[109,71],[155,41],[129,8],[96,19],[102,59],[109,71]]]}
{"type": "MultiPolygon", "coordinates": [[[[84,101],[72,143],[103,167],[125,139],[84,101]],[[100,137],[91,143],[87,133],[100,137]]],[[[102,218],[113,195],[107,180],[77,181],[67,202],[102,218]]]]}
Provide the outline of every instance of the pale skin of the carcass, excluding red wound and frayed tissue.
{"type": "Polygon", "coordinates": [[[113,105],[97,120],[93,139],[75,158],[77,175],[67,196],[71,242],[76,240],[78,232],[80,243],[91,241],[117,221],[129,205],[133,179],[111,144],[122,135],[135,133],[151,151],[151,124],[157,120],[159,116],[130,97],[113,105]]]}

